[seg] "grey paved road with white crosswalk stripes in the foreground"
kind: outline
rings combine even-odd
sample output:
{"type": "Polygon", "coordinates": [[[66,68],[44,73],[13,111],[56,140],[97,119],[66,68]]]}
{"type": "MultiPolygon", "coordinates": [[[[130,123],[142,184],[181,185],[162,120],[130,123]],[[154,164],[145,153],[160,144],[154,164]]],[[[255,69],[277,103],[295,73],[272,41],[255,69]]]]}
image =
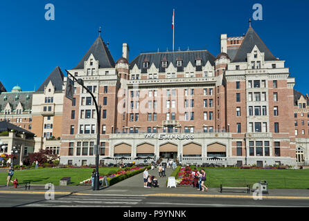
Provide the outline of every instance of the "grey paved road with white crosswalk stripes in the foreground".
{"type": "Polygon", "coordinates": [[[0,194],[0,206],[16,207],[294,207],[309,206],[309,200],[251,200],[240,198],[181,198],[142,195],[44,195],[0,194]]]}

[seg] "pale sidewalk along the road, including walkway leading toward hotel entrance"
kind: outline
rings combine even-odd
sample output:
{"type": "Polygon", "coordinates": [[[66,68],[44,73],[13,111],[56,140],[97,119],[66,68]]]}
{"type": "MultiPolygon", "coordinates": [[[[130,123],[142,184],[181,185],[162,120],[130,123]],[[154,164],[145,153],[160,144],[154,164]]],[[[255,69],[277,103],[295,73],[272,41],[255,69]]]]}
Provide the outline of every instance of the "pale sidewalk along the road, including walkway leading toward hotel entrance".
{"type": "MultiPolygon", "coordinates": [[[[193,187],[166,187],[166,180],[173,172],[173,169],[166,169],[166,177],[159,177],[157,168],[149,170],[150,175],[157,177],[159,188],[144,188],[143,173],[134,175],[126,180],[118,182],[113,186],[102,188],[100,191],[93,191],[91,186],[55,186],[55,194],[85,194],[85,195],[146,195],[146,196],[170,196],[170,197],[206,197],[206,198],[252,198],[254,192],[245,193],[240,191],[224,191],[220,193],[220,188],[210,188],[207,192],[198,191],[193,187]]],[[[44,186],[31,187],[25,190],[24,186],[14,189],[13,186],[0,186],[0,193],[46,193],[44,186]]],[[[263,198],[284,198],[284,199],[304,199],[309,200],[309,189],[269,189],[269,194],[263,194],[263,198]]]]}

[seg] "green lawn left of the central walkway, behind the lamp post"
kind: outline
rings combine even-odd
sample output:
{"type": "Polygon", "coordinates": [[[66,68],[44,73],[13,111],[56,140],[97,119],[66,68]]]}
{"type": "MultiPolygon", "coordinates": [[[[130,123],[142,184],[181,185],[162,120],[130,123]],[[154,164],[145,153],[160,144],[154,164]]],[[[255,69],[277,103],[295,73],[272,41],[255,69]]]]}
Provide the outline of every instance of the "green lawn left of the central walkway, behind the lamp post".
{"type": "MultiPolygon", "coordinates": [[[[119,168],[99,168],[100,176],[110,171],[116,172],[119,168]]],[[[83,180],[91,177],[94,168],[48,168],[48,169],[30,169],[24,171],[15,170],[12,179],[17,177],[20,183],[30,181],[32,184],[46,184],[52,182],[59,185],[62,177],[71,177],[71,186],[76,186],[83,180]]],[[[8,173],[0,173],[0,184],[6,184],[8,173]]],[[[12,184],[12,183],[11,183],[12,184]]]]}

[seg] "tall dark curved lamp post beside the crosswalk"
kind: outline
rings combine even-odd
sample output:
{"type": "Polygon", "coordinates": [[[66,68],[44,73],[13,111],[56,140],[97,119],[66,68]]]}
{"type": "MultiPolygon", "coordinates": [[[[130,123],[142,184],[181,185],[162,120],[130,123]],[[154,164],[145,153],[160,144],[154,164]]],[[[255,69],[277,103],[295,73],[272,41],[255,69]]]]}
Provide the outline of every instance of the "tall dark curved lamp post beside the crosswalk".
{"type": "Polygon", "coordinates": [[[95,153],[96,153],[96,172],[94,173],[94,191],[98,191],[100,189],[100,175],[98,173],[98,149],[100,144],[100,114],[101,114],[101,106],[98,106],[98,103],[96,102],[96,97],[94,97],[94,94],[84,86],[84,81],[82,79],[76,79],[71,73],[69,73],[68,70],[66,70],[68,75],[70,75],[75,81],[82,86],[87,92],[91,95],[92,99],[94,100],[94,104],[96,106],[96,115],[97,115],[97,137],[96,137],[96,146],[95,146],[95,153]]]}

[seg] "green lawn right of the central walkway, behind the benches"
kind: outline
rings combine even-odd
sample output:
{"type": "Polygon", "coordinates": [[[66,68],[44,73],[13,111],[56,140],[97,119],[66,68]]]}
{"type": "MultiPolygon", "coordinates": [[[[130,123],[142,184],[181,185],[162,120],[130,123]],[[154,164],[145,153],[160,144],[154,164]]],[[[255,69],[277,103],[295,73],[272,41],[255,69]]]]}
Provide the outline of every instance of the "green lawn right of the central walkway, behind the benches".
{"type": "MultiPolygon", "coordinates": [[[[198,168],[199,170],[201,168],[198,168]]],[[[205,169],[209,187],[245,186],[266,180],[270,189],[309,189],[309,169],[205,169]]]]}

